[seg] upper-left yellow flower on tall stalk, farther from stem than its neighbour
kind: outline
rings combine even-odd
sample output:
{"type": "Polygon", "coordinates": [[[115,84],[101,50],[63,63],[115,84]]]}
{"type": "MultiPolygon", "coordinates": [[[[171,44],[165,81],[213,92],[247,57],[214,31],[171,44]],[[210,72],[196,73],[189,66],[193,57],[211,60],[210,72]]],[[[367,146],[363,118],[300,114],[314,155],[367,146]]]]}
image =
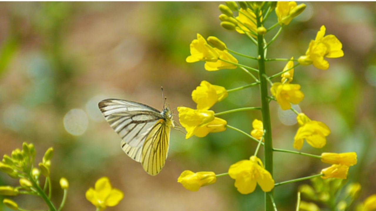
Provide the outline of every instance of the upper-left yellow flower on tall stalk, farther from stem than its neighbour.
{"type": "Polygon", "coordinates": [[[219,54],[211,47],[206,40],[197,33],[197,39],[190,44],[191,56],[186,58],[186,62],[211,61],[216,62],[219,54]]]}

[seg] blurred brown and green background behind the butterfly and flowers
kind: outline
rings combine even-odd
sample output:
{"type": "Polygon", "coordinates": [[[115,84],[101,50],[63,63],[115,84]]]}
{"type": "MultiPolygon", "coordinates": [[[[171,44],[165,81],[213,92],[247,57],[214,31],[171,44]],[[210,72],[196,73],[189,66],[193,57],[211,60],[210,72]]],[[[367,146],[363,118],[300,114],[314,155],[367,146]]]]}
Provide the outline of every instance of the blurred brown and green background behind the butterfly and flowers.
{"type": "MultiPolygon", "coordinates": [[[[295,69],[294,83],[305,99],[300,109],[331,128],[327,145],[302,152],[358,154],[345,182],[362,185],[359,201],[376,190],[376,4],[373,2],[305,2],[306,10],[285,27],[268,48],[269,58],[298,58],[321,25],[343,44],[344,57],[328,59],[326,71],[311,66],[295,69]]],[[[171,109],[195,108],[191,92],[200,81],[227,89],[252,83],[240,69],[205,71],[203,62],[186,63],[196,33],[217,36],[232,50],[256,56],[244,35],[220,27],[217,2],[38,2],[0,3],[0,155],[34,143],[38,159],[52,146],[53,200],[62,196],[58,181],[70,182],[64,210],[94,210],[85,191],[108,176],[124,192],[119,205],[107,210],[262,210],[260,188],[242,195],[233,179],[220,177],[197,192],[177,183],[183,170],[227,172],[228,167],[253,155],[256,144],[243,134],[226,130],[188,140],[171,131],[170,151],[162,172],[149,176],[141,164],[120,148],[120,138],[104,121],[97,104],[121,98],[162,109],[161,86],[171,109]]],[[[265,24],[276,23],[276,15],[265,24]]],[[[267,39],[271,39],[273,30],[267,39]]],[[[257,67],[237,56],[240,63],[257,67]]],[[[267,63],[267,73],[281,71],[285,62],[267,63]]],[[[278,81],[279,78],[273,81],[278,81]]],[[[257,87],[231,93],[212,108],[221,112],[259,106],[257,87]]],[[[293,150],[298,126],[295,116],[271,102],[274,147],[293,150]]],[[[297,108],[299,109],[299,108],[297,108]]],[[[177,112],[175,111],[177,114],[177,112]]],[[[261,113],[240,112],[221,116],[246,132],[261,113]]],[[[177,120],[177,118],[176,118],[177,120]]],[[[259,154],[262,157],[262,153],[259,154]]],[[[329,166],[293,154],[274,153],[276,182],[319,173],[329,166]]],[[[38,161],[39,162],[39,161],[38,161]]],[[[275,189],[278,210],[294,210],[303,181],[275,189]]],[[[0,185],[18,185],[0,173],[0,185]]],[[[2,200],[3,196],[0,196],[2,200]]],[[[33,196],[15,197],[28,209],[45,205],[33,196]]],[[[10,210],[0,204],[0,210],[10,210]]]]}

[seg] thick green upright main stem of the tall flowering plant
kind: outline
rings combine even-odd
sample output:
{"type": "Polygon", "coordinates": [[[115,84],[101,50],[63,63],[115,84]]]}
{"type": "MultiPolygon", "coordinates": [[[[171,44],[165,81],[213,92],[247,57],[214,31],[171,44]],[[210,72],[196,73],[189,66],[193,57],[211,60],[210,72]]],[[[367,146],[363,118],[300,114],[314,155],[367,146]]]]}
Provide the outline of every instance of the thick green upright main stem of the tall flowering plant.
{"type": "MultiPolygon", "coordinates": [[[[259,17],[259,11],[255,12],[257,18],[257,27],[261,27],[261,18],[259,17]]],[[[268,101],[268,81],[265,74],[265,50],[264,50],[264,35],[257,35],[258,45],[258,66],[259,66],[259,80],[260,80],[260,92],[261,92],[261,112],[262,112],[262,124],[264,126],[264,162],[265,169],[270,172],[273,177],[273,142],[271,139],[271,124],[270,124],[270,111],[268,101]]],[[[273,190],[270,194],[273,196],[273,190]]],[[[273,211],[273,203],[270,199],[269,193],[265,193],[265,211],[273,211]]]]}

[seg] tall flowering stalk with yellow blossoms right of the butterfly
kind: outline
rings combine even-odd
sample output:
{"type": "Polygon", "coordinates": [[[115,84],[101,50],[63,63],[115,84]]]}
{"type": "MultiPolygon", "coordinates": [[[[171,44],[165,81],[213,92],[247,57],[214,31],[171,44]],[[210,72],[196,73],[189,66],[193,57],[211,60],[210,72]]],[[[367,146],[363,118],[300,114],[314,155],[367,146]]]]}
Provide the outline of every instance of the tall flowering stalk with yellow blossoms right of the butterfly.
{"type": "MultiPolygon", "coordinates": [[[[245,134],[250,139],[258,142],[255,152],[249,160],[241,160],[231,165],[227,173],[215,175],[214,172],[191,172],[184,171],[178,178],[183,187],[191,191],[197,191],[200,187],[213,184],[217,181],[216,177],[229,175],[235,179],[235,187],[242,194],[252,193],[256,184],[259,184],[265,192],[265,210],[273,211],[277,209],[273,199],[274,187],[297,182],[305,179],[321,177],[345,179],[350,166],[356,164],[356,153],[323,153],[321,155],[312,155],[299,151],[290,151],[285,149],[273,148],[271,137],[270,109],[269,103],[276,101],[282,110],[292,110],[297,115],[299,129],[294,137],[293,147],[300,150],[304,140],[314,148],[322,148],[326,145],[326,137],[330,134],[329,127],[320,121],[314,121],[308,118],[304,113],[299,113],[291,104],[299,104],[304,94],[299,84],[292,84],[294,78],[294,68],[299,65],[314,65],[318,69],[328,69],[329,62],[326,58],[338,58],[344,55],[341,42],[334,35],[325,35],[326,28],[321,26],[314,40],[311,40],[305,55],[299,59],[289,57],[290,59],[272,59],[267,58],[267,49],[276,40],[282,29],[294,17],[302,13],[305,4],[297,5],[296,2],[226,2],[226,5],[220,5],[222,14],[219,16],[221,26],[229,31],[240,33],[249,38],[251,44],[255,44],[257,52],[254,55],[245,55],[227,48],[220,39],[209,36],[204,39],[202,35],[197,34],[190,44],[191,55],[187,57],[187,62],[205,62],[204,68],[207,71],[217,71],[220,69],[240,69],[249,75],[255,82],[247,86],[226,90],[222,86],[212,85],[208,81],[202,81],[192,92],[192,99],[197,103],[196,109],[187,107],[178,107],[180,124],[186,129],[186,139],[197,136],[204,137],[209,133],[221,132],[230,128],[245,134]],[[265,28],[265,20],[275,11],[278,22],[265,28]],[[234,12],[238,16],[234,16],[234,12]],[[271,29],[279,27],[277,33],[270,41],[267,41],[265,35],[270,33],[271,29]],[[258,68],[253,68],[245,64],[239,64],[238,60],[232,56],[242,56],[248,59],[257,60],[258,68]],[[274,75],[268,75],[267,62],[287,61],[282,71],[274,75]],[[294,64],[294,62],[297,62],[294,64]],[[273,82],[276,77],[281,77],[280,82],[273,82]],[[230,92],[259,86],[261,93],[261,107],[235,108],[229,111],[215,113],[209,110],[215,103],[222,101],[230,92]],[[268,92],[270,90],[270,94],[268,92]],[[253,130],[247,133],[239,128],[232,127],[227,121],[217,116],[224,113],[244,112],[247,110],[260,110],[262,121],[255,119],[252,123],[253,130]],[[257,157],[260,146],[264,146],[264,161],[257,157]],[[291,153],[310,156],[321,159],[324,163],[332,166],[322,169],[320,173],[306,176],[303,178],[291,179],[288,181],[274,182],[273,179],[273,153],[291,153]]],[[[249,106],[249,105],[247,105],[249,106]]],[[[250,152],[250,154],[252,154],[250,152]]],[[[299,204],[299,203],[298,203],[299,204]]],[[[300,205],[299,205],[300,206],[300,205]]],[[[297,210],[299,207],[297,208],[297,210]]]]}

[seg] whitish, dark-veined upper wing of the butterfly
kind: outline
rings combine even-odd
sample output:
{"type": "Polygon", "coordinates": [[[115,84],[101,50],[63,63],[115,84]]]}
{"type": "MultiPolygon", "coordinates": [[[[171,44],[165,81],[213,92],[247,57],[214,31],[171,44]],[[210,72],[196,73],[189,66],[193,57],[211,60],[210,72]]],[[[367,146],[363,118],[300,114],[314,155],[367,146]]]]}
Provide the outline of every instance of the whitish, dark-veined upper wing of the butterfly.
{"type": "Polygon", "coordinates": [[[163,116],[145,104],[122,99],[105,99],[99,109],[121,137],[121,148],[133,160],[141,162],[141,151],[154,125],[163,116]]]}

